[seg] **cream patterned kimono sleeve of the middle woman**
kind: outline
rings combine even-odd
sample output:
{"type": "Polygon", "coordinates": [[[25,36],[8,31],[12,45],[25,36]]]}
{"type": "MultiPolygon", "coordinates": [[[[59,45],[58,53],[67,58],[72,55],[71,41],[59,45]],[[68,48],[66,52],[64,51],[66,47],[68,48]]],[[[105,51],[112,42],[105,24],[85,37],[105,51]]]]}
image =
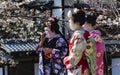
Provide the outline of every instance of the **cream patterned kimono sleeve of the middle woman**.
{"type": "Polygon", "coordinates": [[[86,49],[86,40],[82,33],[75,33],[70,42],[72,43],[70,54],[64,59],[67,68],[75,67],[81,61],[86,49]]]}

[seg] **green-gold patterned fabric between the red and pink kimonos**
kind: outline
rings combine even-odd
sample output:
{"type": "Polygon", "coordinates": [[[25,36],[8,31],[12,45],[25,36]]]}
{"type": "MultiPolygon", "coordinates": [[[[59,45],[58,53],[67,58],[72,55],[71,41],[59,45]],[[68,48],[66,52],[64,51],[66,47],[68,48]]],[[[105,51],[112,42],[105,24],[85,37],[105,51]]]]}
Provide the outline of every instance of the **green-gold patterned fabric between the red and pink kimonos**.
{"type": "Polygon", "coordinates": [[[87,62],[89,63],[89,68],[90,68],[90,73],[91,75],[96,75],[96,48],[95,48],[95,40],[93,37],[89,37],[87,40],[87,46],[86,46],[86,51],[85,51],[85,56],[87,59],[87,62]]]}

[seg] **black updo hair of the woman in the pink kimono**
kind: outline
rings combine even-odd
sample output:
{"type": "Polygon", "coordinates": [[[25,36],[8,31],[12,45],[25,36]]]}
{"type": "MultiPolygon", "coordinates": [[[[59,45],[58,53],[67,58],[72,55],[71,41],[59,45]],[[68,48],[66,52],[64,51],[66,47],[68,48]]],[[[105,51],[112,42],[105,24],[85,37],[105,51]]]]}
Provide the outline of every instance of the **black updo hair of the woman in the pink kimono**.
{"type": "Polygon", "coordinates": [[[90,12],[86,15],[86,22],[92,24],[94,26],[96,24],[97,14],[94,12],[90,12]]]}

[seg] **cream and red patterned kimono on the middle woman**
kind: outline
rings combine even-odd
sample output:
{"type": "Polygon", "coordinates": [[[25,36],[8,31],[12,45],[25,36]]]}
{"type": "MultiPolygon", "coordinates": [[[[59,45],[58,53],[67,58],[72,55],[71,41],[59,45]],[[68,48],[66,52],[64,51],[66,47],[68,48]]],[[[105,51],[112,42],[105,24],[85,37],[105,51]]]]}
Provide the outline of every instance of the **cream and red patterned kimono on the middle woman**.
{"type": "Polygon", "coordinates": [[[92,75],[85,56],[87,39],[90,36],[85,30],[76,30],[69,42],[69,56],[64,58],[68,75],[92,75]]]}

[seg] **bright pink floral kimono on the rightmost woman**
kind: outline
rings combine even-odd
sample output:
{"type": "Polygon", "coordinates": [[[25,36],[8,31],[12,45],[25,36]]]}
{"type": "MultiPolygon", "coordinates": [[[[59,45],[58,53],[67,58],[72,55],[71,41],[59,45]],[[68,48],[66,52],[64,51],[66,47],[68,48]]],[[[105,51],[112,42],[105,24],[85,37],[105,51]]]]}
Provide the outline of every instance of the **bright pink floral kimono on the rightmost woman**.
{"type": "Polygon", "coordinates": [[[96,75],[104,75],[104,50],[105,45],[101,38],[101,32],[99,30],[91,30],[90,36],[94,38],[96,45],[96,75]]]}

